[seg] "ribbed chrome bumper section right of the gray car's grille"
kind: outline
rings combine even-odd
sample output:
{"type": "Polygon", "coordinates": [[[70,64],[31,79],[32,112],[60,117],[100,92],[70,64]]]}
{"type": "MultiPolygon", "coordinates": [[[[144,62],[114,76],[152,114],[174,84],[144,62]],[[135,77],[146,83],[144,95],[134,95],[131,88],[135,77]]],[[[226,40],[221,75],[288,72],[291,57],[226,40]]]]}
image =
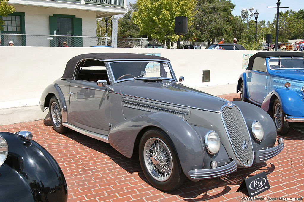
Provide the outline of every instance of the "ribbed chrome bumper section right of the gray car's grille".
{"type": "Polygon", "coordinates": [[[275,147],[263,147],[262,150],[255,151],[255,162],[264,162],[278,153],[280,153],[284,148],[284,143],[278,144],[275,147]]]}

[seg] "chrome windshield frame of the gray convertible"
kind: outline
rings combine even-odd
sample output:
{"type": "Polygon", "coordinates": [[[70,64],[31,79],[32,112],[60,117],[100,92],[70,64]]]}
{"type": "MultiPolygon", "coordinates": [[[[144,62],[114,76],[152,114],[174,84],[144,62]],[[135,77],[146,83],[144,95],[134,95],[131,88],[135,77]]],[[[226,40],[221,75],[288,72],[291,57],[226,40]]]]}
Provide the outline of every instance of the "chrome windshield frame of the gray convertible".
{"type": "Polygon", "coordinates": [[[139,59],[128,59],[128,60],[115,60],[115,61],[108,61],[107,62],[108,64],[108,67],[109,67],[109,70],[110,70],[110,73],[111,73],[111,76],[113,78],[113,81],[114,83],[118,83],[118,82],[121,82],[121,81],[132,81],[132,80],[150,80],[150,79],[159,79],[159,80],[162,80],[162,79],[166,79],[166,80],[171,80],[171,81],[177,81],[176,79],[176,76],[174,74],[174,71],[173,71],[173,68],[171,66],[171,63],[170,61],[162,61],[162,60],[139,60],[139,59]],[[111,63],[117,63],[117,62],[157,62],[157,63],[166,63],[168,64],[168,67],[170,69],[170,73],[171,74],[171,77],[172,78],[168,78],[168,77],[138,77],[138,78],[125,78],[125,79],[119,79],[116,81],[115,79],[115,76],[113,74],[113,71],[112,71],[112,66],[111,66],[111,63]]]}

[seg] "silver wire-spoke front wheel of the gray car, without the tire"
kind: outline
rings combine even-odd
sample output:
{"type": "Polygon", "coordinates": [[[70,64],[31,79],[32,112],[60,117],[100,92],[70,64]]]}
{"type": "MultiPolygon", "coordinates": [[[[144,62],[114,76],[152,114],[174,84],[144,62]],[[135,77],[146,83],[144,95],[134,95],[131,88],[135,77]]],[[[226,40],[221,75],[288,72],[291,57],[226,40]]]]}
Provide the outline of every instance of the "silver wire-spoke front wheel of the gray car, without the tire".
{"type": "Polygon", "coordinates": [[[157,181],[168,180],[172,172],[172,156],[167,145],[152,137],[145,144],[144,161],[150,175],[157,181]]]}

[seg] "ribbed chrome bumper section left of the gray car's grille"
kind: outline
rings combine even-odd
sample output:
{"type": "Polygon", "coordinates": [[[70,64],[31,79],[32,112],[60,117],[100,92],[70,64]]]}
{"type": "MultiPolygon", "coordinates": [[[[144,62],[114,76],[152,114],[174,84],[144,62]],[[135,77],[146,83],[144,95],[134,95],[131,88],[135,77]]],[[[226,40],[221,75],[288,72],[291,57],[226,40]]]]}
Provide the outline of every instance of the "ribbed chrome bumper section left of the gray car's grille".
{"type": "Polygon", "coordinates": [[[221,177],[235,171],[237,171],[237,162],[233,159],[230,164],[204,170],[192,170],[188,172],[188,175],[193,179],[209,179],[214,177],[221,177]]]}

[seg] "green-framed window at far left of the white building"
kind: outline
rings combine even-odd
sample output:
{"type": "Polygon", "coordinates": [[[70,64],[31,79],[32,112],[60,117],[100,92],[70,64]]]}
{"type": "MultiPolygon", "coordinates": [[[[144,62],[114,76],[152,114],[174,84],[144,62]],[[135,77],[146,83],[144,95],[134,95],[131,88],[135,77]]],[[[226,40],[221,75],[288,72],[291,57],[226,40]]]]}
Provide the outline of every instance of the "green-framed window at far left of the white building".
{"type": "Polygon", "coordinates": [[[8,45],[9,41],[13,41],[15,46],[26,46],[24,12],[13,12],[7,17],[0,16],[5,22],[1,33],[12,35],[1,35],[2,45],[8,45]]]}

